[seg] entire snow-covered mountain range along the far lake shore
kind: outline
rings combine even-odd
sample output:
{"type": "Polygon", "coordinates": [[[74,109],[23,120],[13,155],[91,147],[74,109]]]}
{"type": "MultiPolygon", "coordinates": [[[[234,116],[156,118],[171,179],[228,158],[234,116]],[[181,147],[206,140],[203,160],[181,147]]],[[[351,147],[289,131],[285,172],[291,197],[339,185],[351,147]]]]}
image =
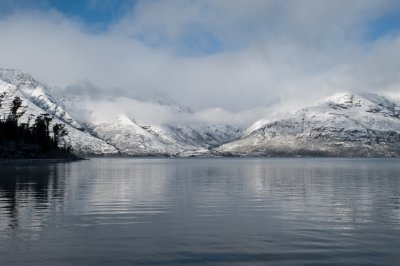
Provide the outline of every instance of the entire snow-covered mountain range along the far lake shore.
{"type": "Polygon", "coordinates": [[[62,145],[84,156],[400,156],[400,103],[376,94],[337,93],[248,128],[198,121],[165,95],[142,101],[90,86],[54,89],[14,69],[0,69],[0,95],[1,117],[18,96],[21,123],[50,114],[66,125],[62,145]],[[135,117],[137,109],[152,119],[135,117]],[[156,123],[158,116],[180,119],[156,123]]]}

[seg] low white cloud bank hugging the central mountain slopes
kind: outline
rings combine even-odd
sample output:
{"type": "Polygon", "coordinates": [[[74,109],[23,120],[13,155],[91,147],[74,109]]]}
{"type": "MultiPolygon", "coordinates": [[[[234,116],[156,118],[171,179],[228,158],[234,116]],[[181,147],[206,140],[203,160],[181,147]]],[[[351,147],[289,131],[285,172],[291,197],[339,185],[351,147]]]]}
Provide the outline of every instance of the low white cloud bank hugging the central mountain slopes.
{"type": "Polygon", "coordinates": [[[268,107],[241,112],[230,112],[222,108],[207,108],[197,112],[177,112],[173,106],[138,101],[127,97],[85,99],[78,105],[81,109],[75,109],[69,113],[80,122],[94,123],[112,121],[124,114],[139,125],[219,125],[229,122],[232,125],[246,127],[261,118],[269,117],[271,119],[282,115],[268,107]]]}

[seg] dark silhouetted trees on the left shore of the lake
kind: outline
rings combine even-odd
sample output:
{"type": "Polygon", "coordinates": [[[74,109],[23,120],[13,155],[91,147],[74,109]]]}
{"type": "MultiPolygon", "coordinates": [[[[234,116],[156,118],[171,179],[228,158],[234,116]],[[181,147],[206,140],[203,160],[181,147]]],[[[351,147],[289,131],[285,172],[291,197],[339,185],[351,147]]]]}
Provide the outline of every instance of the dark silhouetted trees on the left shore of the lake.
{"type": "MultiPolygon", "coordinates": [[[[4,94],[0,95],[0,109],[3,98],[4,94]]],[[[5,150],[10,151],[14,148],[31,149],[40,154],[71,153],[70,147],[60,144],[61,139],[68,135],[64,124],[54,124],[50,130],[53,118],[49,114],[41,114],[36,118],[31,115],[26,123],[19,123],[19,119],[24,114],[24,112],[18,112],[21,106],[21,98],[15,97],[8,115],[0,118],[0,151],[3,150],[4,153],[5,150]],[[34,123],[31,123],[32,119],[35,119],[34,123]]],[[[18,153],[18,151],[15,152],[18,153]]],[[[4,154],[2,157],[5,157],[4,154]]]]}

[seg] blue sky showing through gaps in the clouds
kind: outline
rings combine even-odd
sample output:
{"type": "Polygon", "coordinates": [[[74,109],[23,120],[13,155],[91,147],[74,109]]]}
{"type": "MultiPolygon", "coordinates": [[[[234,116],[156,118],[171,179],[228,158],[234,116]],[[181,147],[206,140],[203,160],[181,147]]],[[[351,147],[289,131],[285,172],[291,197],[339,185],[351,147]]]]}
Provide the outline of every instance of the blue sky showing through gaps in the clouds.
{"type": "MultiPolygon", "coordinates": [[[[67,18],[78,19],[88,32],[106,32],[128,12],[132,13],[139,0],[0,0],[0,18],[18,11],[56,10],[67,18]]],[[[145,0],[152,1],[152,0],[145,0]]],[[[168,0],[165,0],[168,1],[168,0]]],[[[185,0],[183,0],[185,1],[185,0]]],[[[188,1],[189,2],[189,1],[188,1]]],[[[251,25],[252,28],[257,25],[251,25]]],[[[400,31],[398,6],[380,17],[366,20],[361,43],[374,42],[381,37],[400,31]]],[[[249,29],[251,31],[251,29],[249,29]]],[[[150,28],[135,34],[134,38],[153,48],[174,49],[180,56],[201,56],[234,49],[224,43],[221,36],[205,28],[201,23],[185,25],[180,36],[167,36],[163,29],[150,28]]],[[[237,45],[237,44],[236,44],[237,45]]]]}

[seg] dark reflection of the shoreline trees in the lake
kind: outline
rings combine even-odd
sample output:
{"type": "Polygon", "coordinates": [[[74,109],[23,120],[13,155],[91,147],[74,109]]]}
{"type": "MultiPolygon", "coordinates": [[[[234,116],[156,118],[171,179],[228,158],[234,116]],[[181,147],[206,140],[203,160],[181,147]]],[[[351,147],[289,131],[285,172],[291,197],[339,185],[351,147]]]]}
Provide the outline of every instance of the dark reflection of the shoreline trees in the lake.
{"type": "Polygon", "coordinates": [[[1,165],[0,236],[35,238],[62,207],[68,170],[68,164],[1,165]]]}

